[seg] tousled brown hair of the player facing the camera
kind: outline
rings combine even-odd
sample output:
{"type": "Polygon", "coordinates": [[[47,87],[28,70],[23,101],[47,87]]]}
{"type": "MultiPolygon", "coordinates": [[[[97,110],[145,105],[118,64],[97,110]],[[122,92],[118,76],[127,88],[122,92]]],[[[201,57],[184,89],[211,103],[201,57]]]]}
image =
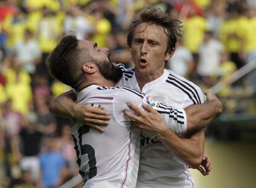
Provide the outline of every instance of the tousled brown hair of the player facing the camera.
{"type": "Polygon", "coordinates": [[[131,49],[132,46],[134,31],[140,23],[155,24],[164,28],[164,32],[168,38],[168,45],[165,53],[171,52],[173,48],[175,49],[177,39],[182,38],[182,22],[180,20],[165,14],[160,8],[146,7],[140,11],[139,18],[134,20],[132,25],[130,25],[127,35],[127,44],[129,49],[131,49]]]}

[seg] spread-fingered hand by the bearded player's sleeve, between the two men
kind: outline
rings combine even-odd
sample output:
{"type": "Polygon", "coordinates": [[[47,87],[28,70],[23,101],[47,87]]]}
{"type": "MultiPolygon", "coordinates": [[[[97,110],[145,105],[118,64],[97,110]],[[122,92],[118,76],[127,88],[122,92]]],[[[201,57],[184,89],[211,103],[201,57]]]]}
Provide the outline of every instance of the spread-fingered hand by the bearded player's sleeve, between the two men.
{"type": "Polygon", "coordinates": [[[128,104],[128,106],[137,113],[137,115],[134,115],[127,110],[124,111],[124,114],[134,121],[133,126],[150,133],[157,133],[161,129],[161,125],[164,126],[162,116],[150,105],[142,104],[147,112],[143,112],[134,104],[128,104]]]}

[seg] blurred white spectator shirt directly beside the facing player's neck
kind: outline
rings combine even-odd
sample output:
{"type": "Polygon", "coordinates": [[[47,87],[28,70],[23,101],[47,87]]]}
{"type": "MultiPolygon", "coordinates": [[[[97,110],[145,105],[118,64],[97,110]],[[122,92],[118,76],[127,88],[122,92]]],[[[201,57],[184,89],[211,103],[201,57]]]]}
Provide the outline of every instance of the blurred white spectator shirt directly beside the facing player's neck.
{"type": "Polygon", "coordinates": [[[191,52],[184,46],[177,47],[173,57],[168,61],[169,70],[177,75],[186,76],[187,64],[193,60],[191,52]]]}

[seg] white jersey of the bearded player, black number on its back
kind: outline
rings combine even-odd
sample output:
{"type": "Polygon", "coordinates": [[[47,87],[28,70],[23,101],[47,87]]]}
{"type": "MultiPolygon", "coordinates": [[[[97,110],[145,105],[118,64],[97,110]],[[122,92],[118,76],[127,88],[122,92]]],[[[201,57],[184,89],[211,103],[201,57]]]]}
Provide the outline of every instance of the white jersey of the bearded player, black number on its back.
{"type": "MultiPolygon", "coordinates": [[[[102,105],[111,116],[104,133],[72,120],[71,132],[83,188],[135,187],[139,168],[140,132],[130,126],[131,121],[124,115],[124,110],[130,111],[127,103],[142,108],[142,101],[152,102],[141,92],[130,88],[92,85],[77,93],[79,104],[95,107],[102,105]]],[[[164,119],[171,120],[166,123],[176,122],[177,126],[184,124],[184,112],[163,104],[155,104],[155,109],[166,116],[164,119]]]]}

